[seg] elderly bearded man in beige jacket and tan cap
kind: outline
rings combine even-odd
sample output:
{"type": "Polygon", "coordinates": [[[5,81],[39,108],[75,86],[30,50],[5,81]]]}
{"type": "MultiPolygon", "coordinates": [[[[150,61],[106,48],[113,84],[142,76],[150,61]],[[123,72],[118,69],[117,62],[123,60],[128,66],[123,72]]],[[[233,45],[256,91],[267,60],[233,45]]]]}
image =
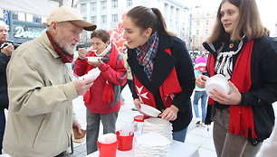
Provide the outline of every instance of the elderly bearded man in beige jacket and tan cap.
{"type": "Polygon", "coordinates": [[[7,68],[9,114],[4,152],[13,157],[64,156],[72,135],[72,99],[83,95],[92,78],[72,82],[70,63],[83,21],[71,7],[53,10],[41,37],[14,51],[7,68]]]}

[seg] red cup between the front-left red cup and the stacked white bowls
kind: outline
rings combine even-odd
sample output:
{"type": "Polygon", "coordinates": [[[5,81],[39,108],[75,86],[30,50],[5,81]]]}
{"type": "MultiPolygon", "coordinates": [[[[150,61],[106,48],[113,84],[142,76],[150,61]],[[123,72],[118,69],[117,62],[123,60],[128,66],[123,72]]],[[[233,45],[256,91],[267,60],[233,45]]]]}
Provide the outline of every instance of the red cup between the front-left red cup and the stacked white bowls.
{"type": "Polygon", "coordinates": [[[120,136],[119,132],[116,133],[118,138],[118,150],[129,151],[133,148],[134,134],[128,136],[120,136]]]}

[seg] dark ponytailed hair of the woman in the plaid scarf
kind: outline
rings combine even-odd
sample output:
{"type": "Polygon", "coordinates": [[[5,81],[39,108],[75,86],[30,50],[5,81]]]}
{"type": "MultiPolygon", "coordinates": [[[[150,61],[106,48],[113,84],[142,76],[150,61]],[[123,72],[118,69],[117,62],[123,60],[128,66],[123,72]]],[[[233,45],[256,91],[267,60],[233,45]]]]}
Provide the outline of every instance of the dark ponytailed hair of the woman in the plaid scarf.
{"type": "Polygon", "coordinates": [[[148,8],[145,6],[136,6],[129,10],[126,14],[131,18],[132,22],[135,23],[142,31],[151,28],[152,33],[158,31],[159,33],[175,36],[172,32],[167,32],[167,24],[163,15],[157,8],[148,8]]]}

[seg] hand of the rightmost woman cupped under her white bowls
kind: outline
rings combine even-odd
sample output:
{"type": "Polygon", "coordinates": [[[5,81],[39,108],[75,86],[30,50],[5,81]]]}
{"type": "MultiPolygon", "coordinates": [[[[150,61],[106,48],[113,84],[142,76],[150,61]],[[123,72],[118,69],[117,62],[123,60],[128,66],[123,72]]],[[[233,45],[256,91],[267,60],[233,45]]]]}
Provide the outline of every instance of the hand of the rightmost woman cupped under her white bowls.
{"type": "Polygon", "coordinates": [[[219,90],[213,89],[210,91],[210,97],[222,105],[239,105],[242,101],[242,95],[231,81],[229,81],[229,85],[232,88],[230,94],[226,95],[219,90]]]}

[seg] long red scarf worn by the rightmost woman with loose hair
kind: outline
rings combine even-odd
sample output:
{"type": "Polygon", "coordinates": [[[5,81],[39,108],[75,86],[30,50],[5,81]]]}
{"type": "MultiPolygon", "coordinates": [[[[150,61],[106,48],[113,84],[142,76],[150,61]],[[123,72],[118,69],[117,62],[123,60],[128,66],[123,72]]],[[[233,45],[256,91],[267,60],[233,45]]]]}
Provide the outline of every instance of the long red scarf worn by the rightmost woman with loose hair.
{"type": "MultiPolygon", "coordinates": [[[[241,93],[247,92],[251,88],[251,56],[253,49],[253,40],[246,42],[243,50],[239,54],[234,65],[234,72],[231,81],[241,93]]],[[[215,75],[215,57],[209,55],[207,69],[212,76],[215,75]]],[[[215,105],[211,98],[208,100],[209,105],[215,105]]],[[[248,131],[251,131],[252,138],[257,138],[254,131],[253,112],[251,106],[230,105],[230,123],[228,133],[244,135],[249,137],[248,131]]]]}

